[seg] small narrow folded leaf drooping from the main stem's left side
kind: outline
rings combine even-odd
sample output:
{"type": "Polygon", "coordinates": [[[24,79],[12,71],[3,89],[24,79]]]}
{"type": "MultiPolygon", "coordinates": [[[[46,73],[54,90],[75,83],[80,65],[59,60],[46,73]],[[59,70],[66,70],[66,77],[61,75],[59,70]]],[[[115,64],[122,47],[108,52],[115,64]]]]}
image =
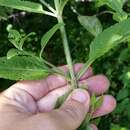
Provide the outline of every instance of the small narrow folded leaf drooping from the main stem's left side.
{"type": "Polygon", "coordinates": [[[41,49],[41,52],[40,52],[40,56],[42,55],[44,48],[46,47],[46,45],[49,42],[49,40],[51,39],[51,37],[63,25],[64,25],[63,23],[58,23],[55,26],[53,26],[46,34],[43,35],[43,37],[41,39],[41,48],[42,49],[41,49]]]}

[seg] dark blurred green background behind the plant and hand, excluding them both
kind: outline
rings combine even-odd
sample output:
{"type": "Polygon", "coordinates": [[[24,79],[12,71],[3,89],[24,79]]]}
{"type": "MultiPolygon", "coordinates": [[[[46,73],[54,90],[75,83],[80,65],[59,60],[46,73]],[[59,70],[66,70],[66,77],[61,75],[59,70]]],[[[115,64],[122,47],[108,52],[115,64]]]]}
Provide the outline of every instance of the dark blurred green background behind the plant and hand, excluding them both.
{"type": "MultiPolygon", "coordinates": [[[[37,1],[38,0],[31,0],[37,1]]],[[[48,0],[50,4],[51,1],[48,0]]],[[[78,22],[77,15],[72,11],[75,8],[82,15],[99,15],[103,28],[113,25],[115,21],[111,14],[102,14],[107,7],[96,8],[93,2],[70,2],[64,11],[67,35],[70,43],[71,54],[75,63],[84,63],[88,57],[89,44],[93,36],[88,33],[78,22]]],[[[124,10],[130,13],[130,8],[125,5],[124,10]]],[[[57,21],[40,14],[21,13],[17,10],[0,7],[0,56],[5,56],[12,48],[8,41],[6,27],[9,24],[23,33],[36,32],[25,44],[28,51],[40,51],[40,39],[57,21]],[[3,14],[2,14],[3,12],[3,14]],[[3,19],[4,18],[4,19],[3,19]],[[6,19],[7,18],[7,19],[6,19]]],[[[47,45],[44,53],[45,59],[55,65],[66,64],[60,33],[57,32],[47,45]]],[[[130,43],[122,44],[111,50],[104,57],[93,64],[95,74],[103,73],[111,81],[109,94],[118,102],[116,110],[103,118],[99,123],[99,130],[130,130],[130,43]]],[[[0,91],[8,88],[14,81],[0,79],[0,91]]]]}

